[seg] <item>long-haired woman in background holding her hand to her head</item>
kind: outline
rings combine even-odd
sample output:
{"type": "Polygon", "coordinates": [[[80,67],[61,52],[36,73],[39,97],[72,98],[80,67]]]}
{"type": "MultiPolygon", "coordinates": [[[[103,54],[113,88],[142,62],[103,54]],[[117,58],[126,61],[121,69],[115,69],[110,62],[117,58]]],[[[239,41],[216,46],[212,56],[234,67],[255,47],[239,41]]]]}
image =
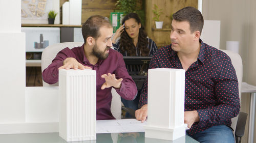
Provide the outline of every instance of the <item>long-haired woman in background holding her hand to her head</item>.
{"type": "MultiPolygon", "coordinates": [[[[118,28],[112,38],[115,50],[123,54],[123,56],[153,56],[157,51],[156,43],[147,38],[141,20],[136,13],[129,13],[124,16],[122,25],[118,28]],[[120,37],[119,41],[117,39],[120,37]]],[[[121,98],[125,107],[138,109],[140,89],[138,89],[137,97],[133,101],[121,98]]],[[[131,117],[126,113],[125,117],[131,117]]]]}

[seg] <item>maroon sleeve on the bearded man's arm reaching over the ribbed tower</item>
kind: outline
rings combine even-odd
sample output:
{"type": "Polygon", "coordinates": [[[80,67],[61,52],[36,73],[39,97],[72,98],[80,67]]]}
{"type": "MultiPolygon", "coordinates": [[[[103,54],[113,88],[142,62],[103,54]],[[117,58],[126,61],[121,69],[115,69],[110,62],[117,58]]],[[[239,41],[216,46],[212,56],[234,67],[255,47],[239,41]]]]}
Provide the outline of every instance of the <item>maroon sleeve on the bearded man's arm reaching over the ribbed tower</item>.
{"type": "Polygon", "coordinates": [[[53,59],[52,64],[50,64],[42,72],[42,79],[49,84],[54,84],[58,82],[58,79],[59,79],[58,68],[63,66],[63,61],[69,57],[76,58],[76,55],[71,49],[65,48],[59,51],[56,57],[53,59]]]}

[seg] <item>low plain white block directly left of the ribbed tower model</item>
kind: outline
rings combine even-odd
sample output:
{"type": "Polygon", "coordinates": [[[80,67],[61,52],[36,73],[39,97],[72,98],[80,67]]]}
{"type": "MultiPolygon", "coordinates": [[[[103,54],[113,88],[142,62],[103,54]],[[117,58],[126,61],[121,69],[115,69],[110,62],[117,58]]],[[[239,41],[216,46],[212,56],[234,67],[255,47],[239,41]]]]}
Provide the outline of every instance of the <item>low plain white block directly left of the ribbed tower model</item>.
{"type": "Polygon", "coordinates": [[[26,87],[26,123],[59,122],[58,87],[26,87]]]}

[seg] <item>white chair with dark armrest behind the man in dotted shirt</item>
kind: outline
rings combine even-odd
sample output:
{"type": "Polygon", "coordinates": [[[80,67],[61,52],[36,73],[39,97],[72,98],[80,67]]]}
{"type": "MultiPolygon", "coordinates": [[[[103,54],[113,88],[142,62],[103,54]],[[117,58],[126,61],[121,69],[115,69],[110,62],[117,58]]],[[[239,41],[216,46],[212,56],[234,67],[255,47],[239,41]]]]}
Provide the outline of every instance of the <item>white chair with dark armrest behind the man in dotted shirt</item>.
{"type": "MultiPolygon", "coordinates": [[[[239,97],[241,100],[241,88],[242,88],[242,78],[243,78],[243,63],[241,56],[238,53],[229,51],[229,50],[221,50],[225,52],[229,58],[231,59],[234,70],[236,70],[238,77],[238,85],[239,85],[239,97]]],[[[235,129],[236,142],[239,140],[241,142],[241,137],[244,135],[245,123],[247,119],[247,114],[240,112],[238,117],[232,118],[231,127],[235,129]]]]}

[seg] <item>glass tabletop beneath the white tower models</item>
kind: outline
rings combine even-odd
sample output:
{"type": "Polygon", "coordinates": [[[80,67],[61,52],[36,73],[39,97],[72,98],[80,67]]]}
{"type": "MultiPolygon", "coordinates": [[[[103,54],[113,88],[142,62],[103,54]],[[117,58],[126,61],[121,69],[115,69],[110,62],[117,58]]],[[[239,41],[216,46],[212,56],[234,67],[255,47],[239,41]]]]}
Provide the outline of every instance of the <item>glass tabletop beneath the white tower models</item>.
{"type": "MultiPolygon", "coordinates": [[[[101,133],[97,134],[97,140],[72,141],[72,143],[197,143],[195,139],[185,135],[176,140],[162,140],[145,138],[144,132],[135,133],[101,133]]],[[[59,133],[25,133],[25,134],[1,134],[0,142],[5,143],[66,143],[59,133]]]]}

